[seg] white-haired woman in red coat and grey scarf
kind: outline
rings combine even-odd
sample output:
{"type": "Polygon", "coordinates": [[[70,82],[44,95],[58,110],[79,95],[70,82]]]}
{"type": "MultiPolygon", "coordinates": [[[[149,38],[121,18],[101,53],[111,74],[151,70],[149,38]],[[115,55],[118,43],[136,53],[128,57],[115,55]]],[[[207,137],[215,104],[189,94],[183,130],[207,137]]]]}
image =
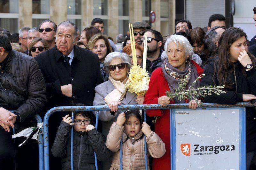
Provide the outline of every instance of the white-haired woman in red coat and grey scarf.
{"type": "MultiPolygon", "coordinates": [[[[157,68],[150,77],[149,89],[146,93],[143,104],[160,104],[167,106],[169,103],[189,103],[189,108],[196,109],[195,100],[188,101],[173,98],[170,100],[166,96],[166,90],[174,93],[177,89],[178,82],[182,79],[188,81],[189,87],[197,77],[203,73],[203,69],[196,64],[191,57],[193,47],[188,39],[181,35],[172,35],[167,39],[164,45],[167,58],[163,59],[163,65],[157,68]]],[[[194,84],[199,87],[199,82],[194,84]]],[[[201,101],[199,101],[201,102],[201,101]]],[[[155,132],[165,143],[166,152],[163,157],[153,159],[153,169],[170,169],[170,114],[169,110],[147,110],[149,117],[157,117],[155,122],[155,132]]]]}

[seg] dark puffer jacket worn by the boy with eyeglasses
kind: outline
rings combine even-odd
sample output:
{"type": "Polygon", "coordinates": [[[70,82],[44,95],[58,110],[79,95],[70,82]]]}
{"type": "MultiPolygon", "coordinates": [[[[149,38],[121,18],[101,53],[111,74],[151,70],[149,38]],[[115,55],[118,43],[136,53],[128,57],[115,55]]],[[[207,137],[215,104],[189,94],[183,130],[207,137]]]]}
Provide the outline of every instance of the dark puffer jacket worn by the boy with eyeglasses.
{"type": "MultiPolygon", "coordinates": [[[[54,144],[52,146],[52,154],[55,157],[62,158],[62,170],[71,169],[71,152],[70,152],[70,136],[71,125],[62,121],[54,144]]],[[[73,162],[76,170],[95,170],[94,152],[97,159],[103,161],[110,157],[111,151],[105,145],[106,137],[92,129],[88,132],[77,132],[74,130],[73,137],[73,162]]],[[[99,165],[99,161],[98,161],[99,165]]],[[[100,168],[99,168],[100,169],[100,168]]]]}

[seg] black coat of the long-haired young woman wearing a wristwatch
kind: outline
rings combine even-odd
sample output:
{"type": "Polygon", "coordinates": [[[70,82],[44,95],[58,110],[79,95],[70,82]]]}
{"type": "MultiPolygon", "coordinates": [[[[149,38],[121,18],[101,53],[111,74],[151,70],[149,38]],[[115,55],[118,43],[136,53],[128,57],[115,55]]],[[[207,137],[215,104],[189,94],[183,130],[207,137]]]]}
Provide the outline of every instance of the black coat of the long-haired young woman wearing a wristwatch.
{"type": "MultiPolygon", "coordinates": [[[[216,61],[217,62],[217,61],[216,61]]],[[[220,83],[217,80],[217,75],[214,74],[214,64],[211,62],[204,67],[205,77],[202,78],[200,86],[217,85],[220,83]],[[213,80],[214,82],[213,82],[213,80]]],[[[225,94],[212,94],[204,97],[204,102],[207,103],[219,103],[219,104],[236,104],[237,102],[243,102],[243,94],[256,95],[256,69],[253,67],[251,70],[246,71],[247,76],[243,75],[243,66],[239,61],[234,65],[229,66],[230,70],[233,70],[230,74],[231,82],[234,82],[231,89],[226,89],[225,94]],[[234,67],[235,75],[234,76],[234,67]]],[[[256,151],[256,112],[253,107],[246,108],[246,152],[256,151]]]]}

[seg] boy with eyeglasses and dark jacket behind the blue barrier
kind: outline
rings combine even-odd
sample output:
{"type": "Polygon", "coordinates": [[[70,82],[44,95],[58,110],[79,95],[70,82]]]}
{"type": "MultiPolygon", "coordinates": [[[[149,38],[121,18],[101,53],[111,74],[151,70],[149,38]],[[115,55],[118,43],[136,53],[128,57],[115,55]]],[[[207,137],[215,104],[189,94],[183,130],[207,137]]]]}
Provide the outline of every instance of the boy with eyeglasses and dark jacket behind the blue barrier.
{"type": "MultiPolygon", "coordinates": [[[[78,111],[74,113],[74,123],[72,118],[62,117],[62,122],[58,128],[52,154],[62,158],[62,170],[71,168],[71,127],[74,127],[73,136],[73,162],[74,169],[90,170],[95,169],[94,152],[99,161],[103,161],[110,156],[111,151],[105,145],[106,137],[98,132],[93,126],[91,111],[78,111]]],[[[99,162],[98,161],[98,165],[99,162]]],[[[100,169],[100,168],[99,168],[100,169]]]]}

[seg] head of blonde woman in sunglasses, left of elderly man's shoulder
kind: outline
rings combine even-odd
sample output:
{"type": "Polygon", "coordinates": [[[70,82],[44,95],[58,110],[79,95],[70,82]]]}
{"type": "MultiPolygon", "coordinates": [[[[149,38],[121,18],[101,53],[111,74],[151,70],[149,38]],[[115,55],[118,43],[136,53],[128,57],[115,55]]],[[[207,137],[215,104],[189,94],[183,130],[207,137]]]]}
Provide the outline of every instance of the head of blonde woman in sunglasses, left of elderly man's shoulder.
{"type": "Polygon", "coordinates": [[[36,57],[38,54],[49,49],[48,43],[45,39],[36,37],[33,39],[28,47],[28,55],[36,57]]]}

